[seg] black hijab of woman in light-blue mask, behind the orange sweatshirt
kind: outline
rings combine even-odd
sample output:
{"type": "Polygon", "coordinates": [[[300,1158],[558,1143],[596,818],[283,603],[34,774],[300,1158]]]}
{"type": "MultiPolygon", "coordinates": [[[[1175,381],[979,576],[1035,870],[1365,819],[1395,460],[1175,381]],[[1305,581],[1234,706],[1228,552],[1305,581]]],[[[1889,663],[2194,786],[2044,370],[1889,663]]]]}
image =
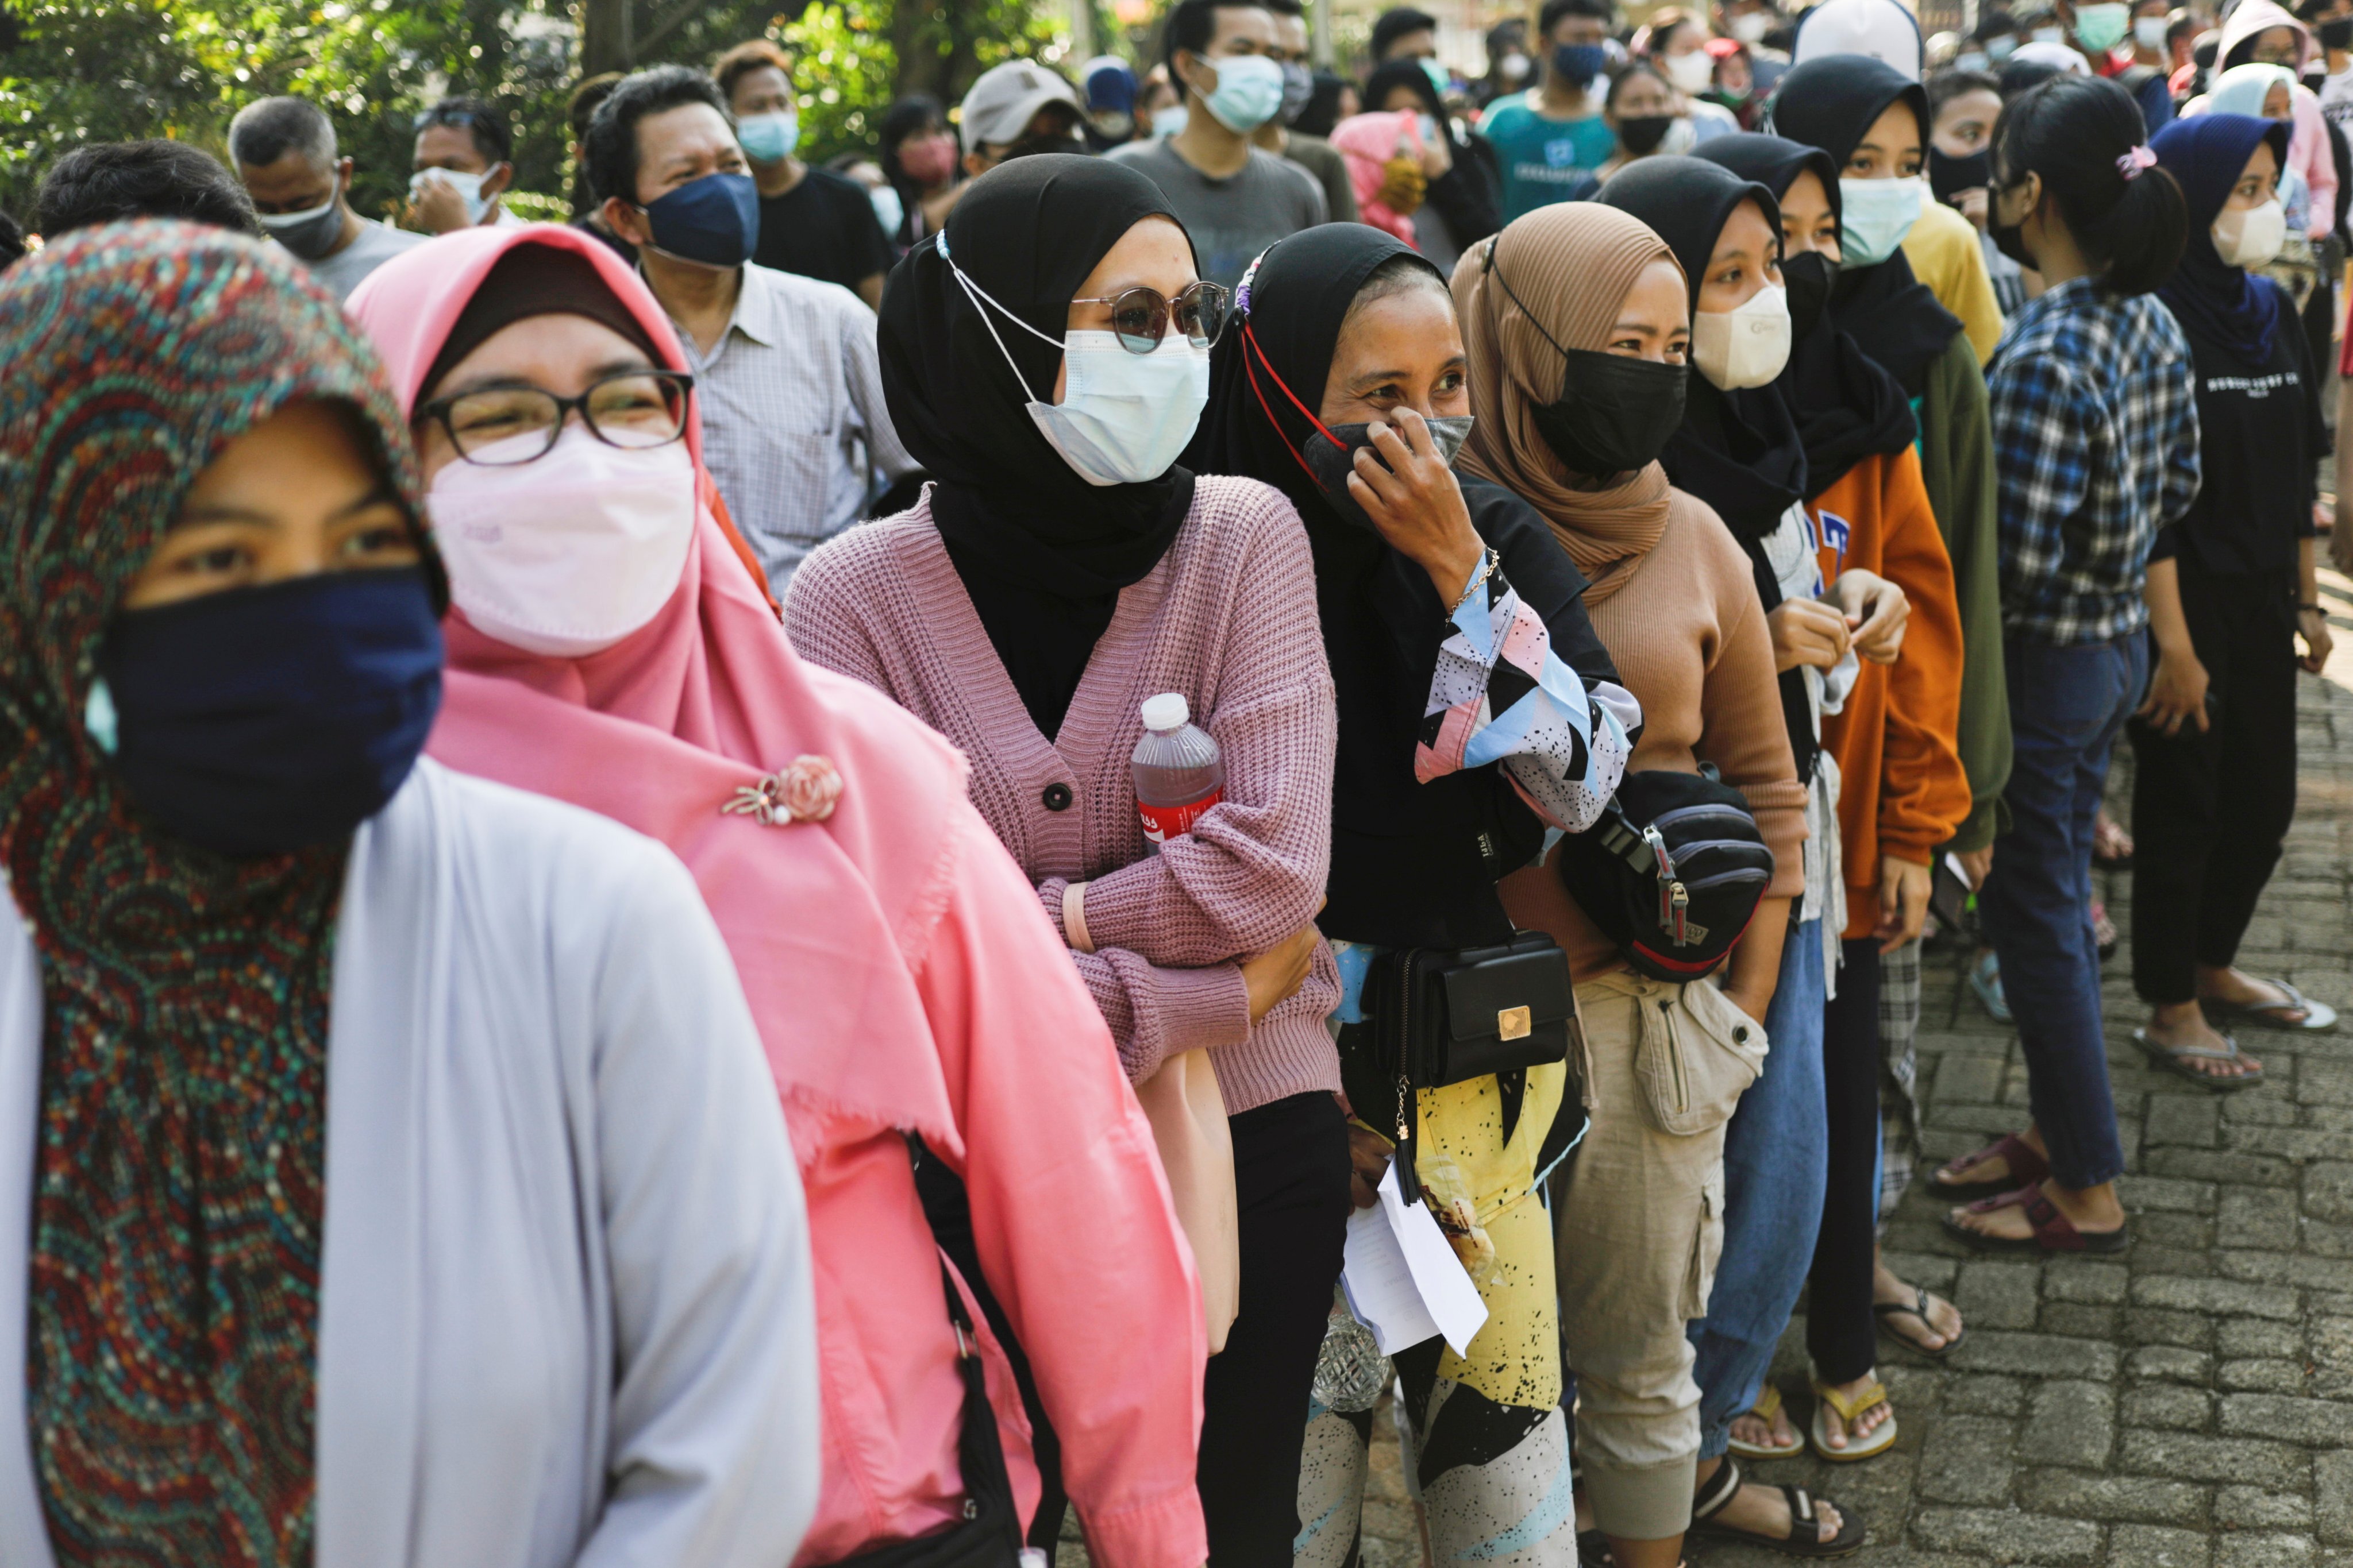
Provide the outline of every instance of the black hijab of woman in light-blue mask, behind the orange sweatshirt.
{"type": "MultiPolygon", "coordinates": [[[[1920,146],[1927,148],[1927,89],[1920,82],[1868,54],[1826,54],[1781,78],[1767,127],[1774,136],[1831,155],[1833,174],[1826,183],[1838,202],[1835,172],[1847,167],[1857,143],[1897,101],[1920,120],[1920,146]]],[[[1908,397],[1927,388],[1929,367],[1960,331],[1960,317],[1913,277],[1901,249],[1878,266],[1840,268],[1831,284],[1831,315],[1866,355],[1894,374],[1908,397]]]]}

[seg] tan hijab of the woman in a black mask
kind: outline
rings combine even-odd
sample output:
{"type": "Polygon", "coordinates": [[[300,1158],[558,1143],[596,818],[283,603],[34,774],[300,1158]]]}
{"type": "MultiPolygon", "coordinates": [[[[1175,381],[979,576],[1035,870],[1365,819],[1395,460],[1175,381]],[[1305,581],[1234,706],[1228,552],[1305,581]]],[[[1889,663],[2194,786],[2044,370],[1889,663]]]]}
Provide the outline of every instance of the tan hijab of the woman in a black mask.
{"type": "Polygon", "coordinates": [[[1513,221],[1487,244],[1473,244],[1454,263],[1454,308],[1478,414],[1461,468],[1544,512],[1593,583],[1588,607],[1624,588],[1666,531],[1666,470],[1652,463],[1607,489],[1574,489],[1529,407],[1560,397],[1560,348],[1600,350],[1626,292],[1661,259],[1682,273],[1675,252],[1640,219],[1600,202],[1555,202],[1513,221]],[[1508,294],[1497,273],[1511,280],[1508,294]]]}

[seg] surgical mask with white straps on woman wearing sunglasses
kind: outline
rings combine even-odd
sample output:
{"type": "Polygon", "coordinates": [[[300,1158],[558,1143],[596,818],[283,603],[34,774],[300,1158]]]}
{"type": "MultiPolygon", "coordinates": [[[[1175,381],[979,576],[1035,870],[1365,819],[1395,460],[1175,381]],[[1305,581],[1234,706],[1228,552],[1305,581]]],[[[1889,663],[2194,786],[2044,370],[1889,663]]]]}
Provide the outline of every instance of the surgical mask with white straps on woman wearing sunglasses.
{"type": "MultiPolygon", "coordinates": [[[[946,240],[939,237],[941,261],[948,259],[946,240]]],[[[1193,440],[1200,411],[1209,407],[1209,350],[1193,348],[1193,339],[1169,327],[1160,348],[1148,355],[1132,355],[1120,348],[1115,331],[1066,331],[1056,343],[1047,334],[1024,322],[998,301],[988,299],[965,270],[948,261],[955,282],[965,287],[972,308],[981,313],[988,336],[998,341],[998,353],[1014,369],[1014,381],[1028,390],[1028,378],[1014,362],[998,324],[995,308],[1021,331],[1045,339],[1061,350],[1064,390],[1061,402],[1028,400],[1031,423],[1045,444],[1061,454],[1087,484],[1144,484],[1158,480],[1193,440]]]]}

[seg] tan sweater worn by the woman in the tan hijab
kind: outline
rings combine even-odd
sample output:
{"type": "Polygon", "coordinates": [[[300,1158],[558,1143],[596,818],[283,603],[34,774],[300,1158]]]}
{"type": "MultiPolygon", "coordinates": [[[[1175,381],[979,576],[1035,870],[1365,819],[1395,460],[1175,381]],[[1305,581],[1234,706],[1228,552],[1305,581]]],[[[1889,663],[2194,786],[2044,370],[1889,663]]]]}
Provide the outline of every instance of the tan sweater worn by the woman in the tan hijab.
{"type": "MultiPolygon", "coordinates": [[[[1588,611],[1619,679],[1642,703],[1642,741],[1626,771],[1697,773],[1701,762],[1713,762],[1722,780],[1748,797],[1772,846],[1767,896],[1795,898],[1805,891],[1805,785],[1781,726],[1772,632],[1755,574],[1704,501],[1678,489],[1668,505],[1666,531],[1633,581],[1588,611]]],[[[1934,536],[1934,520],[1927,527],[1934,536]]],[[[1518,870],[1497,891],[1515,926],[1560,943],[1579,980],[1626,966],[1548,865],[1518,870]]]]}

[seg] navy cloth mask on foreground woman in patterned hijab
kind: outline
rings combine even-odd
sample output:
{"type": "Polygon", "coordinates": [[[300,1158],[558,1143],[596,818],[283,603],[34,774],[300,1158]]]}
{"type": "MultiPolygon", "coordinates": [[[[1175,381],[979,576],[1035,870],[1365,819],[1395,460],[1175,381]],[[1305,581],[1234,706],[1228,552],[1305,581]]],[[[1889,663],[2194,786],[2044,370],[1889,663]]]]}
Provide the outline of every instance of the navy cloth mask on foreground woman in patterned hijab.
{"type": "Polygon", "coordinates": [[[393,797],[440,710],[424,567],[327,571],[115,618],[85,724],[174,837],[271,856],[393,797]]]}

